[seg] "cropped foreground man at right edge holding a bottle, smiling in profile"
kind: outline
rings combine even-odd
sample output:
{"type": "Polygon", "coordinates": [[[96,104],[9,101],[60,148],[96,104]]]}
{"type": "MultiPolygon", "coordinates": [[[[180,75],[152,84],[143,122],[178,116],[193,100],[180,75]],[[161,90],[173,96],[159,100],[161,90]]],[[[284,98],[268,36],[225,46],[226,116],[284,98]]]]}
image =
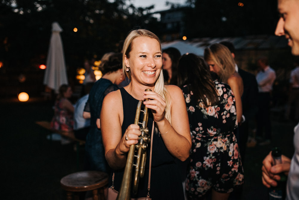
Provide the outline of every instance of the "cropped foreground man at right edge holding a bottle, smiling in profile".
{"type": "MultiPolygon", "coordinates": [[[[292,54],[299,55],[299,0],[278,0],[280,19],[277,23],[275,34],[285,36],[288,45],[292,48],[292,54]]],[[[299,123],[294,128],[295,153],[290,160],[282,155],[282,164],[272,166],[271,152],[263,160],[262,181],[266,187],[277,186],[280,180],[279,174],[288,175],[286,187],[286,199],[299,199],[299,123]]]]}

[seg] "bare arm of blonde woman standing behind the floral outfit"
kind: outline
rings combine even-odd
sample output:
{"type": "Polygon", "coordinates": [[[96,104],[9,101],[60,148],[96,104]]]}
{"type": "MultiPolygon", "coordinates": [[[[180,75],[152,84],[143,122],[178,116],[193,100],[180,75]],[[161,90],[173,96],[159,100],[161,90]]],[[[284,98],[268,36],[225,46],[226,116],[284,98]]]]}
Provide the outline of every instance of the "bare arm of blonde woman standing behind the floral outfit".
{"type": "Polygon", "coordinates": [[[231,87],[231,90],[234,93],[236,101],[236,111],[237,111],[237,120],[238,124],[242,122],[242,101],[241,96],[243,93],[243,81],[242,78],[238,75],[232,75],[228,78],[228,85],[231,87]]]}

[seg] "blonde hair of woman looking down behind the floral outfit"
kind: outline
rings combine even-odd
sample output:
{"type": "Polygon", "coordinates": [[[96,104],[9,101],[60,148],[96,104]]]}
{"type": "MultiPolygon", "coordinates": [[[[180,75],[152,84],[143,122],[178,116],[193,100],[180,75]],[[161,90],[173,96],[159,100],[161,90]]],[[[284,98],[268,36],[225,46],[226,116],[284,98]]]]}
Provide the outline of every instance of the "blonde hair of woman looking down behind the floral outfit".
{"type": "Polygon", "coordinates": [[[205,61],[214,61],[219,67],[219,77],[222,82],[227,83],[227,80],[236,71],[235,61],[229,49],[219,43],[212,44],[205,49],[205,61]]]}

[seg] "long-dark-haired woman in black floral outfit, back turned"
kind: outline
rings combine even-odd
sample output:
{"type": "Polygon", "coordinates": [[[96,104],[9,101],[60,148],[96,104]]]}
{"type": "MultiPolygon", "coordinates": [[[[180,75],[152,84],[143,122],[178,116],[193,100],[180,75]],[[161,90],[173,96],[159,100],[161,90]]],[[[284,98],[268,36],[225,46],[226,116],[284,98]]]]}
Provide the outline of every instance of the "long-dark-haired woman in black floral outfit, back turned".
{"type": "Polygon", "coordinates": [[[228,199],[243,184],[243,168],[233,130],[237,113],[231,88],[213,80],[204,60],[195,54],[181,57],[178,84],[184,93],[192,148],[187,169],[188,199],[228,199]]]}

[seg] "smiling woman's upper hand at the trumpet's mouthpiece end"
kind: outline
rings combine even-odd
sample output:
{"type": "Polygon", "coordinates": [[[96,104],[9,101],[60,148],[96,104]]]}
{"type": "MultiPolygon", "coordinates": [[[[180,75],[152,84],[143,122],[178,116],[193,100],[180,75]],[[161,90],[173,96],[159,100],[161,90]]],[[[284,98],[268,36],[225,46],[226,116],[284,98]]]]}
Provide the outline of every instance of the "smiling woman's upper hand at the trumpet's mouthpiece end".
{"type": "Polygon", "coordinates": [[[154,121],[159,122],[165,117],[165,107],[166,102],[163,97],[161,97],[158,93],[152,91],[144,91],[143,98],[149,99],[148,101],[144,101],[143,104],[152,109],[152,113],[154,115],[154,121]]]}

